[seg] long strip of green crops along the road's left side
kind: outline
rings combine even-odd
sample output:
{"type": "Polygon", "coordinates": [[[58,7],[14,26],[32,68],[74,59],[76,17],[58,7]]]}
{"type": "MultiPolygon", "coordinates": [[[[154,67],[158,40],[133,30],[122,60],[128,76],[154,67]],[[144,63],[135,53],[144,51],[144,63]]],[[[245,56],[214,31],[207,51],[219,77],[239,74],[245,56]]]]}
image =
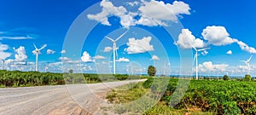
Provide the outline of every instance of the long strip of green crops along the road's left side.
{"type": "Polygon", "coordinates": [[[139,78],[145,77],[120,74],[82,74],[73,73],[72,70],[69,71],[69,73],[0,71],[0,87],[28,87],[65,83],[101,83],[139,78]]]}

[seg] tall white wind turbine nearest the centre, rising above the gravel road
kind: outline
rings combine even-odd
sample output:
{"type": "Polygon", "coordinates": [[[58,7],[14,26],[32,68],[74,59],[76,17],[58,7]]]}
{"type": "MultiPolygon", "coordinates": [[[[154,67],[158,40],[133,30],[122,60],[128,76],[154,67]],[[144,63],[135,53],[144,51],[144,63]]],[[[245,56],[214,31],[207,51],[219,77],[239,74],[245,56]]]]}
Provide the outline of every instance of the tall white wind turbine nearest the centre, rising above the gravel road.
{"type": "MultiPolygon", "coordinates": [[[[128,30],[127,30],[126,32],[128,32],[128,30]]],[[[115,74],[115,56],[118,55],[118,54],[117,54],[117,48],[116,48],[116,42],[117,42],[121,37],[123,37],[126,32],[124,32],[122,35],[120,35],[119,37],[117,37],[115,40],[113,40],[113,38],[111,38],[111,37],[105,36],[106,38],[108,38],[109,40],[111,40],[111,42],[113,43],[113,74],[115,74]]]]}

